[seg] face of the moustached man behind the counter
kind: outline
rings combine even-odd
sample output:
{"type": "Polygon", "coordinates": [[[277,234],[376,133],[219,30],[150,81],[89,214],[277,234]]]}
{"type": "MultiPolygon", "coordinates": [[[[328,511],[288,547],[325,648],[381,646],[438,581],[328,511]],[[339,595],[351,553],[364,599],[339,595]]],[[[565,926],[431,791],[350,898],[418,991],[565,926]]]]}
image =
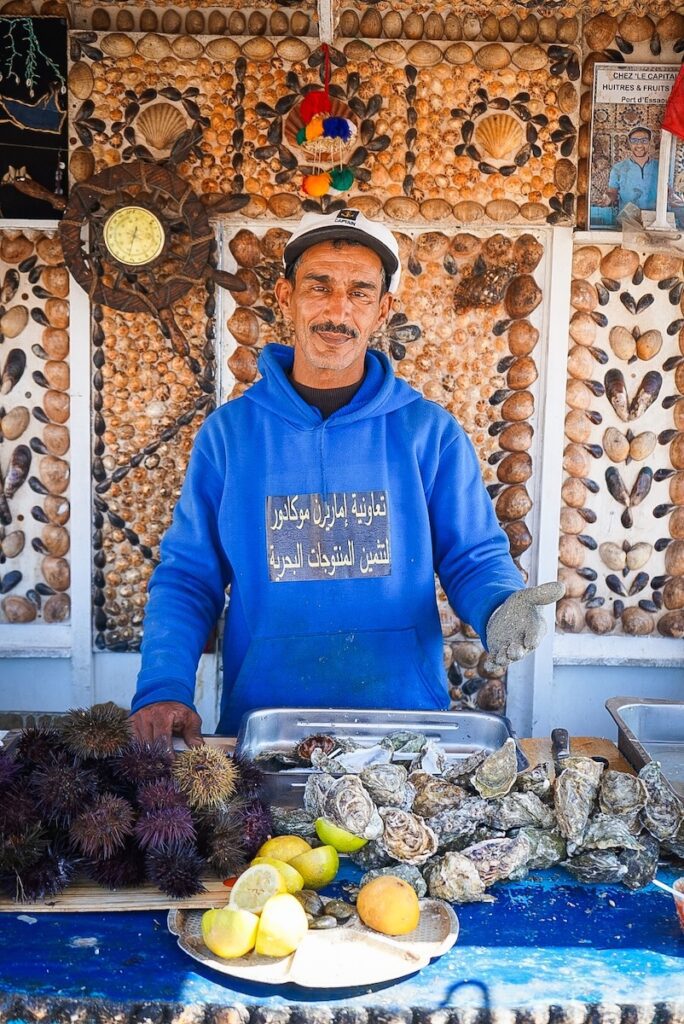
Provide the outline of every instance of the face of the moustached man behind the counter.
{"type": "Polygon", "coordinates": [[[369,339],[392,297],[381,296],[380,257],[364,246],[320,242],[302,254],[295,281],[280,279],[275,297],[294,326],[294,378],[309,387],[360,380],[369,339]]]}

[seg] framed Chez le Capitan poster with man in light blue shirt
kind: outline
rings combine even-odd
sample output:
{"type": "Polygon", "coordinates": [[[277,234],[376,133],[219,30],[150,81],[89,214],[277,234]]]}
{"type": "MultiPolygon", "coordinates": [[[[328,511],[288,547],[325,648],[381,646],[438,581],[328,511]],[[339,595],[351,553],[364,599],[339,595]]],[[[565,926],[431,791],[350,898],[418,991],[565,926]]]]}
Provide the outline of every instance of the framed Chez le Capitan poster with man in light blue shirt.
{"type": "MultiPolygon", "coordinates": [[[[641,211],[655,210],[662,115],[679,70],[679,65],[594,66],[590,228],[619,227],[628,204],[641,211]]],[[[677,209],[677,151],[673,146],[669,177],[669,209],[673,214],[682,209],[677,209]]]]}

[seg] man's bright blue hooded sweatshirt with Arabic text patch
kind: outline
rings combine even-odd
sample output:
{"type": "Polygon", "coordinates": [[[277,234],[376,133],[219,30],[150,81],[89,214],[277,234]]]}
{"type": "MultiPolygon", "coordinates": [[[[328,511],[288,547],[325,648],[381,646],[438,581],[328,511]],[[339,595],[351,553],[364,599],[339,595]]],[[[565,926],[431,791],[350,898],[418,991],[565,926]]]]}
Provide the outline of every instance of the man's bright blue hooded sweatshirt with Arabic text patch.
{"type": "Polygon", "coordinates": [[[470,439],[369,351],[327,420],[292,387],[293,349],[198,432],[149,583],[132,710],[193,707],[229,586],[218,731],[259,707],[445,709],[436,572],[484,637],[523,586],[470,439]]]}

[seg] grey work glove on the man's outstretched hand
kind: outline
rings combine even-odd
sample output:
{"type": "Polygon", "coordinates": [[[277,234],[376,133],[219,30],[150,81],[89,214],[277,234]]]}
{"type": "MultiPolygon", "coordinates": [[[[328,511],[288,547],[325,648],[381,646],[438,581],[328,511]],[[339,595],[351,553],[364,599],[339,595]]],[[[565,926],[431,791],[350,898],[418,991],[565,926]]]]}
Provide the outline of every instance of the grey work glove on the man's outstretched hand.
{"type": "Polygon", "coordinates": [[[554,604],[564,593],[562,583],[543,583],[541,587],[518,590],[507,597],[486,624],[488,653],[484,671],[501,672],[511,662],[518,662],[539,647],[546,633],[546,623],[538,605],[554,604]]]}

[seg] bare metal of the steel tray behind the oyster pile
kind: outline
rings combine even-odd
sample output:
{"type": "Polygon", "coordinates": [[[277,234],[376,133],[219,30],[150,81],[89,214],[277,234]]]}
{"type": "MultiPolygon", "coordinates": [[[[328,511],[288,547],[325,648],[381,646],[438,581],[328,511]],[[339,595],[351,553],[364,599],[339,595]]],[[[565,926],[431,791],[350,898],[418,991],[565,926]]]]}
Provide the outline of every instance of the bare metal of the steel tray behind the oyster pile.
{"type": "MultiPolygon", "coordinates": [[[[509,720],[489,712],[262,708],[243,718],[236,752],[255,758],[266,752],[291,751],[301,739],[315,733],[330,733],[355,739],[362,746],[373,746],[398,730],[421,732],[436,740],[444,750],[447,763],[463,760],[477,751],[490,754],[509,737],[515,738],[509,720]]],[[[517,744],[516,748],[518,771],[524,771],[529,763],[517,744]]],[[[393,760],[408,765],[413,757],[413,754],[398,755],[393,760]]],[[[264,772],[264,799],[279,807],[301,807],[304,786],[312,770],[264,772]]]]}

